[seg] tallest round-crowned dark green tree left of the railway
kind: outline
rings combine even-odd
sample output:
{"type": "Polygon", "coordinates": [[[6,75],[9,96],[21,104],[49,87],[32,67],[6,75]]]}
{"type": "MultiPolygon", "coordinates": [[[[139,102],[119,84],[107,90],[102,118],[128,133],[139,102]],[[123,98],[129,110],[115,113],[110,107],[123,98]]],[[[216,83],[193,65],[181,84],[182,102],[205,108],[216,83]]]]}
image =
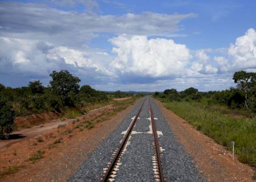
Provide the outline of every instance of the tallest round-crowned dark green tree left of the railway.
{"type": "Polygon", "coordinates": [[[73,96],[71,92],[74,94],[79,92],[81,81],[79,77],[71,75],[67,70],[53,71],[49,76],[52,77],[52,81],[49,82],[52,92],[61,97],[64,105],[72,106],[73,102],[69,96],[73,96]]]}

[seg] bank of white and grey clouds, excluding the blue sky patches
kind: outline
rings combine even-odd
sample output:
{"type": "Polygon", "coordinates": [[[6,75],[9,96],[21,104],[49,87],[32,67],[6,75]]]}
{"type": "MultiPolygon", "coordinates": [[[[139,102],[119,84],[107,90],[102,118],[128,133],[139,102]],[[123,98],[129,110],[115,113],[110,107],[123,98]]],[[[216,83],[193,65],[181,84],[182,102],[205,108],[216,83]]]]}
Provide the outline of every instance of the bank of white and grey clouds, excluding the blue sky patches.
{"type": "Polygon", "coordinates": [[[256,71],[253,28],[228,48],[191,50],[174,42],[171,36],[182,36],[180,22],[193,13],[101,15],[1,2],[0,16],[0,82],[9,86],[47,84],[53,70],[68,69],[101,90],[215,90],[232,86],[234,71],[256,71]],[[103,34],[111,52],[88,46],[103,34]],[[23,81],[15,82],[18,77],[23,81]]]}

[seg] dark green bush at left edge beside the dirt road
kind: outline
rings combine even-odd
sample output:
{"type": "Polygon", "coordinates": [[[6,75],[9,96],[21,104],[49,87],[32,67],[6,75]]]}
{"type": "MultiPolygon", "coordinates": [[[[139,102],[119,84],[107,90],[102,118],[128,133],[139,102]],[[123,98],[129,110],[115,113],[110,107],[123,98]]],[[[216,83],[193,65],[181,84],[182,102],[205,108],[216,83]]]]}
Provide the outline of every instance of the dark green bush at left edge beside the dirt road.
{"type": "Polygon", "coordinates": [[[0,99],[0,138],[8,138],[13,131],[15,113],[13,106],[6,100],[0,99]]]}

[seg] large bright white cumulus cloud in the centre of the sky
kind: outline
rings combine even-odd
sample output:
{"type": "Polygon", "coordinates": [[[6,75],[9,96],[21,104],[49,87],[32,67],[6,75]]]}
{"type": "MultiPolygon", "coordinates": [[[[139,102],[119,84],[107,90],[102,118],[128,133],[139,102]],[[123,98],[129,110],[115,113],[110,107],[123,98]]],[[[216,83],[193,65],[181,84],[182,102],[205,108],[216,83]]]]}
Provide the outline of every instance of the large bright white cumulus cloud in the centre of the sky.
{"type": "Polygon", "coordinates": [[[117,55],[113,67],[122,73],[151,77],[180,75],[191,57],[184,44],[171,39],[119,35],[110,42],[117,55]]]}

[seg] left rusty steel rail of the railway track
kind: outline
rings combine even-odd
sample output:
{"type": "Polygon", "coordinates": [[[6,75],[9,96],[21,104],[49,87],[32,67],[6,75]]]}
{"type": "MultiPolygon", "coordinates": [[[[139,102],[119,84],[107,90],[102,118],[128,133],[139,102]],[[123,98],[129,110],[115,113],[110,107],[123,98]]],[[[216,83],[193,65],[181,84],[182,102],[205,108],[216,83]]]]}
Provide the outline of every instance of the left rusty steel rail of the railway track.
{"type": "Polygon", "coordinates": [[[146,101],[146,98],[145,100],[143,101],[142,103],[142,106],[141,108],[139,109],[138,113],[136,114],[135,118],[133,119],[133,122],[131,123],[129,129],[127,130],[127,133],[125,134],[125,137],[123,138],[122,140],[122,143],[121,143],[121,146],[118,148],[118,151],[117,153],[115,154],[114,156],[114,159],[112,160],[112,163],[110,164],[108,170],[106,171],[106,173],[104,174],[104,176],[102,177],[101,181],[102,182],[107,182],[109,181],[109,177],[110,175],[112,175],[112,171],[115,167],[115,163],[117,162],[118,158],[119,158],[119,155],[121,154],[122,150],[123,150],[123,147],[125,147],[125,144],[127,142],[127,140],[129,139],[129,136],[131,134],[131,131],[133,130],[133,127],[137,121],[137,118],[139,117],[139,114],[141,113],[141,110],[142,110],[142,107],[144,105],[144,102],[146,101]]]}

